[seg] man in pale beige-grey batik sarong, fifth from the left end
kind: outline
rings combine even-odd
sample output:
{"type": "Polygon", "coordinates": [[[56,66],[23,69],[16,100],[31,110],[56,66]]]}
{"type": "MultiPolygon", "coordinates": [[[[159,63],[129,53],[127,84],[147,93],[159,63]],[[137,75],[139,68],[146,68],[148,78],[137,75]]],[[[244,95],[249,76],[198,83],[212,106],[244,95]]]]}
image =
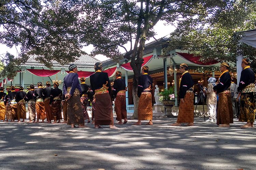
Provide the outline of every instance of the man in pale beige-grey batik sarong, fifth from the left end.
{"type": "Polygon", "coordinates": [[[35,123],[35,95],[34,95],[34,85],[31,84],[29,86],[29,92],[25,97],[25,101],[28,102],[28,114],[29,114],[29,122],[28,123],[35,123]]]}

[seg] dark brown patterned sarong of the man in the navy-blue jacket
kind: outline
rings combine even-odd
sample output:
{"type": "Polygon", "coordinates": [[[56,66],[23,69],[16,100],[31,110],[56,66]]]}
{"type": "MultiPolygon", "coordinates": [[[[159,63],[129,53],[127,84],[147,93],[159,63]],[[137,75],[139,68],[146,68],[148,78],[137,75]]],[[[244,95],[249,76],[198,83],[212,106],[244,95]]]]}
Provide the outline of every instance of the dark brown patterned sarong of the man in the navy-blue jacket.
{"type": "MultiPolygon", "coordinates": [[[[69,93],[71,87],[68,87],[69,93]]],[[[76,88],[74,94],[67,101],[67,124],[84,124],[83,108],[80,101],[80,91],[76,88]]]]}

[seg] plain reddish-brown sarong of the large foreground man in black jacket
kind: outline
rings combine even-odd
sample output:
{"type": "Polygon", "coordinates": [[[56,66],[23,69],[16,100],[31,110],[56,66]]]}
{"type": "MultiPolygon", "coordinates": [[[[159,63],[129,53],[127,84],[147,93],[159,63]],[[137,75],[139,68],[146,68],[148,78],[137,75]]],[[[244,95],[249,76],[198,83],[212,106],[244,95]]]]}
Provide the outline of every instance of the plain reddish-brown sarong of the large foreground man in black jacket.
{"type": "Polygon", "coordinates": [[[114,125],[112,100],[108,90],[95,90],[95,125],[114,125]]]}

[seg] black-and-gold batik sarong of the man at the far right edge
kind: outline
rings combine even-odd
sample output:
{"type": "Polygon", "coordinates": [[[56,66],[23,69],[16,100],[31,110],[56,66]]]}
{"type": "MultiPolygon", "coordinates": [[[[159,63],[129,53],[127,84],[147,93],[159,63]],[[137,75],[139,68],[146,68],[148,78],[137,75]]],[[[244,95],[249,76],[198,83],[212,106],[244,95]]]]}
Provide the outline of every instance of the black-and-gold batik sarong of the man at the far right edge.
{"type": "Polygon", "coordinates": [[[240,99],[240,116],[241,122],[254,122],[256,112],[255,92],[242,93],[240,99]]]}

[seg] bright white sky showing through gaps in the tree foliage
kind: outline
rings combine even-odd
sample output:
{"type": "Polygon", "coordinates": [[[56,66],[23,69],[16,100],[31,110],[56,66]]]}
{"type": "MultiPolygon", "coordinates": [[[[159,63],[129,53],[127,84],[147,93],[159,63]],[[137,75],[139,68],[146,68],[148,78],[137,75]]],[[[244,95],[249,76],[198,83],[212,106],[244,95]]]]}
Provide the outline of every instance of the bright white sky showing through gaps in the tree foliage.
{"type": "MultiPolygon", "coordinates": [[[[171,32],[173,32],[175,30],[175,27],[171,26],[171,25],[165,25],[165,21],[158,21],[158,23],[154,27],[154,30],[156,32],[156,35],[154,37],[156,39],[159,39],[161,37],[169,35],[171,32]]],[[[147,40],[146,43],[150,43],[151,41],[154,41],[154,40],[155,40],[154,38],[150,38],[150,40],[147,40]]],[[[125,47],[127,47],[127,49],[129,49],[130,45],[127,44],[127,45],[125,45],[125,47]]],[[[91,51],[93,51],[93,48],[94,48],[93,45],[89,45],[87,47],[84,47],[82,50],[85,51],[86,53],[90,54],[91,51]]],[[[121,53],[125,53],[125,50],[121,47],[119,48],[119,51],[121,53]]],[[[3,44],[0,44],[0,55],[5,54],[6,52],[9,52],[9,53],[13,54],[14,56],[18,55],[18,52],[15,47],[9,48],[3,44]]],[[[105,61],[105,60],[109,59],[104,55],[96,55],[95,58],[97,58],[100,61],[105,61]]]]}

